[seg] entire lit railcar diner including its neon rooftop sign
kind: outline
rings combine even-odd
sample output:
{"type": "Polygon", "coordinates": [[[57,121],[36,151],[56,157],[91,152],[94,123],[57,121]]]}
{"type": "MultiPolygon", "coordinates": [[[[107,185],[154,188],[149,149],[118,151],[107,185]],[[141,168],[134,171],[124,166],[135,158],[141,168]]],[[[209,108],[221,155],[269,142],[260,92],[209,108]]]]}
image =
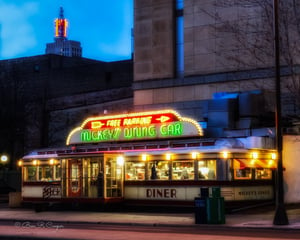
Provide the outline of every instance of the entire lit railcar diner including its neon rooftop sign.
{"type": "Polygon", "coordinates": [[[228,204],[274,197],[276,152],[262,138],[205,138],[174,110],[103,115],[74,128],[67,147],[19,162],[30,203],[193,206],[201,187],[220,187],[228,204]]]}

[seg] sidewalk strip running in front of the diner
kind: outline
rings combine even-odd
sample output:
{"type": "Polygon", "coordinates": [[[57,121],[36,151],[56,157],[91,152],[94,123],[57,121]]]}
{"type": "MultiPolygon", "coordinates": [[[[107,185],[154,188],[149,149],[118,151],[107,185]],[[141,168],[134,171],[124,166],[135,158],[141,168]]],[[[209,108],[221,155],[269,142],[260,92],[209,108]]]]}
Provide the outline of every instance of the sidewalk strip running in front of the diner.
{"type": "MultiPolygon", "coordinates": [[[[75,222],[119,225],[148,226],[199,226],[199,227],[235,227],[235,228],[281,228],[300,230],[300,208],[288,209],[289,225],[273,225],[274,211],[246,211],[226,214],[225,224],[195,224],[194,213],[148,213],[148,212],[88,212],[88,211],[43,211],[33,209],[8,208],[1,204],[1,221],[47,221],[75,222]]],[[[1,224],[1,223],[0,223],[1,224]]]]}

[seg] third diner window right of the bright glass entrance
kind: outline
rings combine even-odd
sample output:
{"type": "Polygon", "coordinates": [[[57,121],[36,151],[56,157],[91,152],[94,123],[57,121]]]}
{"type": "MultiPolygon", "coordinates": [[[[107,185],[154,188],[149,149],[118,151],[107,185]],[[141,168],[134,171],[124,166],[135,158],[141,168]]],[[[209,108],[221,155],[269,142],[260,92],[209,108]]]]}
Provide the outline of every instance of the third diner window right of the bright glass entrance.
{"type": "Polygon", "coordinates": [[[172,163],[172,179],[193,180],[194,170],[194,161],[174,161],[172,163]]]}

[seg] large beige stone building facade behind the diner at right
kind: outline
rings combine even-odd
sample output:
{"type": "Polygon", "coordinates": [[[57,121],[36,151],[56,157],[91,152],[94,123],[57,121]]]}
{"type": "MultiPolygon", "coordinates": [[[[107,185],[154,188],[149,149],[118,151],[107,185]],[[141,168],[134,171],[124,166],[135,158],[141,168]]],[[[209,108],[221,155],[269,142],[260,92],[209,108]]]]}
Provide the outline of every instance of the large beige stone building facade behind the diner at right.
{"type": "MultiPolygon", "coordinates": [[[[272,39],[272,28],[264,22],[263,5],[239,2],[135,1],[136,110],[172,107],[200,121],[208,118],[208,100],[216,95],[236,93],[239,98],[239,93],[248,92],[251,99],[258,101],[255,96],[259,91],[259,102],[249,103],[250,108],[258,104],[261,109],[254,117],[274,113],[273,41],[263,39],[265,36],[272,39]],[[235,25],[239,28],[233,29],[235,25]],[[244,30],[239,36],[238,29],[244,30]],[[257,47],[254,52],[251,46],[256,41],[265,48],[257,47]]],[[[283,72],[283,110],[295,115],[299,110],[295,110],[287,89],[291,78],[288,71],[283,72]]],[[[257,123],[257,119],[248,122],[257,123]]],[[[240,125],[238,120],[233,127],[240,125]]]]}

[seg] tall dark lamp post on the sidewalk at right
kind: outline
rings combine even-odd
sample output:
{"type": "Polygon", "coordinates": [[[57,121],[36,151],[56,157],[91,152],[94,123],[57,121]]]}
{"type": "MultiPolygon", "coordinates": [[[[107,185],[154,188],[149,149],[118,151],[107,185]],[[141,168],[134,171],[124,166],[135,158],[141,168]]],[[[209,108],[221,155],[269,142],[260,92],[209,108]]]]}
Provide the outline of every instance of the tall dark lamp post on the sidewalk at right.
{"type": "Polygon", "coordinates": [[[284,206],[283,167],[282,167],[282,124],[281,124],[281,88],[280,88],[280,55],[279,55],[279,24],[278,2],[273,0],[273,27],[275,51],[275,88],[276,88],[276,148],[278,152],[276,173],[276,210],[273,220],[274,225],[288,225],[289,221],[284,206]]]}

